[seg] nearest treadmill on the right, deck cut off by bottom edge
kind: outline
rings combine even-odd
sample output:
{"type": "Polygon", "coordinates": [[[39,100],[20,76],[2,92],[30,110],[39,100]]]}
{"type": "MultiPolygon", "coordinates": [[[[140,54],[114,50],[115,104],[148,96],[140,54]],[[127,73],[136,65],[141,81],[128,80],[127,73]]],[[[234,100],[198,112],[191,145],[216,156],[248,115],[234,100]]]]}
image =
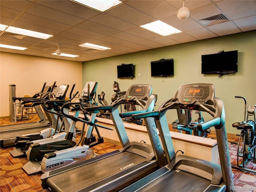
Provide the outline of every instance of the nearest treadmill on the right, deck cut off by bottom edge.
{"type": "Polygon", "coordinates": [[[225,112],[222,100],[215,97],[213,84],[183,84],[175,97],[164,102],[157,111],[132,116],[134,119],[146,117],[154,117],[156,120],[169,164],[124,188],[122,192],[234,191],[225,112]],[[169,109],[199,110],[213,117],[198,124],[198,130],[215,127],[220,165],[190,156],[175,156],[165,116],[169,109]]]}

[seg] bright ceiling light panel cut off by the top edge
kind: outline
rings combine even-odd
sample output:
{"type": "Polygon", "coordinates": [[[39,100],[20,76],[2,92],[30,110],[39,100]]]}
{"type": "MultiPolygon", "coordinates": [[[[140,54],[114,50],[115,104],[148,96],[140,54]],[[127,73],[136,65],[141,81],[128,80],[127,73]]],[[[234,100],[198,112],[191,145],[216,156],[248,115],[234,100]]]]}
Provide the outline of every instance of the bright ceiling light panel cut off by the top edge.
{"type": "Polygon", "coordinates": [[[87,7],[104,12],[122,3],[118,0],[72,0],[87,7]]]}

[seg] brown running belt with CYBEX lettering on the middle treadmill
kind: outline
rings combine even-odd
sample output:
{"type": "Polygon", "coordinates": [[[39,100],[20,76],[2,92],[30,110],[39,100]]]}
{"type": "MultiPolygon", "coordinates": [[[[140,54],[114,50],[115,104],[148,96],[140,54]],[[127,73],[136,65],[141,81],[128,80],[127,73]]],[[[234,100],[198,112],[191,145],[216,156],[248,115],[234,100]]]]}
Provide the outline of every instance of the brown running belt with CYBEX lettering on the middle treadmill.
{"type": "Polygon", "coordinates": [[[100,159],[49,177],[46,183],[52,191],[64,192],[81,190],[93,184],[93,186],[84,189],[84,191],[88,191],[89,188],[96,188],[106,182],[114,180],[115,178],[108,177],[120,173],[121,170],[124,172],[121,173],[121,175],[126,174],[127,168],[136,166],[136,164],[144,160],[145,158],[142,156],[130,152],[121,152],[108,158],[100,159]]]}

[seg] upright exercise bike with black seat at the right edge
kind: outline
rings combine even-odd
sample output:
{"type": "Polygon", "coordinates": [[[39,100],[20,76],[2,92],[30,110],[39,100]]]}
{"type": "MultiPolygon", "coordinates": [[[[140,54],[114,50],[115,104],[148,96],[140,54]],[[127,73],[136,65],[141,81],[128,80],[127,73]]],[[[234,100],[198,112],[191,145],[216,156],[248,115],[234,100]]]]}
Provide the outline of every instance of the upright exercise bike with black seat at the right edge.
{"type": "MultiPolygon", "coordinates": [[[[235,96],[235,98],[244,99],[244,121],[233,123],[232,126],[241,130],[239,142],[237,145],[237,166],[232,166],[233,168],[249,171],[256,173],[256,170],[251,170],[245,168],[245,164],[250,160],[256,163],[256,123],[255,123],[255,111],[256,105],[249,105],[247,108],[247,118],[246,117],[246,98],[241,96],[235,96]],[[254,116],[254,120],[248,120],[248,116],[254,116]],[[242,146],[240,148],[240,146],[242,146]],[[242,163],[239,164],[239,157],[242,157],[242,163]]],[[[234,142],[232,142],[234,144],[234,142]]]]}

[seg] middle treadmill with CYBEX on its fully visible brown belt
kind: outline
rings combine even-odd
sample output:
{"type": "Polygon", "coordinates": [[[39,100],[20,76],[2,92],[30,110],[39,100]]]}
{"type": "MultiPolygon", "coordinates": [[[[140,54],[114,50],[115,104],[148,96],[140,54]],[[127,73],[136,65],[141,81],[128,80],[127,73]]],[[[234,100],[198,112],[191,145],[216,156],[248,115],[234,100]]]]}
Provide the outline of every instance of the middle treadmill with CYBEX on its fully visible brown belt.
{"type": "Polygon", "coordinates": [[[41,176],[42,188],[52,192],[120,190],[165,166],[166,160],[154,126],[154,119],[145,119],[154,147],[141,142],[130,142],[122,122],[124,117],[153,110],[155,96],[151,92],[150,85],[136,84],[130,86],[126,94],[110,106],[86,108],[87,111],[109,110],[122,149],[46,172],[41,176]],[[127,103],[140,105],[142,110],[119,115],[118,107],[127,103]]]}

